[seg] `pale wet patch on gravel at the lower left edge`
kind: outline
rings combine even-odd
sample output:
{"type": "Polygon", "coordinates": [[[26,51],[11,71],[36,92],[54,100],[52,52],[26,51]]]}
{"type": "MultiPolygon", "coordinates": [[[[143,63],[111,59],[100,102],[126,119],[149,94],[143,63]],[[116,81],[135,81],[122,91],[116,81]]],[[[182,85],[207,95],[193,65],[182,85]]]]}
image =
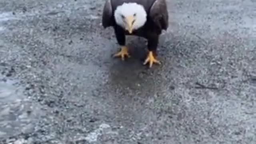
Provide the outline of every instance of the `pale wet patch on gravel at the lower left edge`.
{"type": "Polygon", "coordinates": [[[23,94],[17,80],[0,75],[0,138],[34,131],[43,112],[23,94]]]}

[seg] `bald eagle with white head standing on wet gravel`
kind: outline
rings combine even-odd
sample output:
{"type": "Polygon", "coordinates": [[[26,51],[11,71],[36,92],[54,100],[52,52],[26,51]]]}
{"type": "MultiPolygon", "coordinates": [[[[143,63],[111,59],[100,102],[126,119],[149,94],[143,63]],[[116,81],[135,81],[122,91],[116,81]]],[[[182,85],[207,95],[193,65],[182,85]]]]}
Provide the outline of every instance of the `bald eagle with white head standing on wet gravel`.
{"type": "Polygon", "coordinates": [[[160,64],[156,59],[159,35],[168,28],[166,0],[106,0],[102,14],[102,26],[112,26],[120,52],[114,57],[130,57],[126,35],[135,35],[148,40],[148,56],[144,65],[160,64]]]}

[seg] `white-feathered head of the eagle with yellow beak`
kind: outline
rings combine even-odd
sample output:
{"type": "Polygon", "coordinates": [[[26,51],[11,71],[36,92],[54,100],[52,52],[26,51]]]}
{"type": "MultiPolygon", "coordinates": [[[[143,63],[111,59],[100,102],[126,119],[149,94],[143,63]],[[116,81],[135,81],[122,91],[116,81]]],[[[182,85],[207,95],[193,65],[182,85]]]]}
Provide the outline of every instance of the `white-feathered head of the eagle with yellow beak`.
{"type": "Polygon", "coordinates": [[[133,30],[142,27],[147,20],[147,13],[144,7],[137,3],[124,3],[118,6],[114,12],[116,23],[128,30],[131,34],[133,30]]]}

